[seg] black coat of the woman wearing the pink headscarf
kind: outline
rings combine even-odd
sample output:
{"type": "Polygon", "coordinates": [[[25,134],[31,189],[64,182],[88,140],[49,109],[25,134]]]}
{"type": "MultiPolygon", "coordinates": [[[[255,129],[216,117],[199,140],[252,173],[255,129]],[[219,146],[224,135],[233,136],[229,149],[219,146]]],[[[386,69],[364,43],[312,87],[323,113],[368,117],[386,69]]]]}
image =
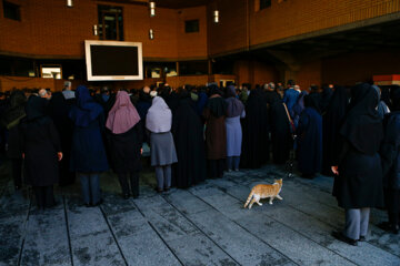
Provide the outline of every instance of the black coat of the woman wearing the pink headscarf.
{"type": "Polygon", "coordinates": [[[143,140],[141,121],[122,134],[107,130],[107,140],[116,173],[138,172],[141,170],[140,149],[143,140]]]}

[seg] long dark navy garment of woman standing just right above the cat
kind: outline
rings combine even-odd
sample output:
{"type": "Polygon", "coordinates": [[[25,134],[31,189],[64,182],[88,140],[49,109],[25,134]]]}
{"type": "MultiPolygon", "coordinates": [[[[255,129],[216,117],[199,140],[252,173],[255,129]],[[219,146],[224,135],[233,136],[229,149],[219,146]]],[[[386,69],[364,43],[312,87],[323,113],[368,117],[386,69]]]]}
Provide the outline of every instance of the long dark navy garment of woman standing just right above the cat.
{"type": "Polygon", "coordinates": [[[322,116],[312,108],[300,115],[298,135],[299,171],[316,174],[322,167],[322,116]]]}

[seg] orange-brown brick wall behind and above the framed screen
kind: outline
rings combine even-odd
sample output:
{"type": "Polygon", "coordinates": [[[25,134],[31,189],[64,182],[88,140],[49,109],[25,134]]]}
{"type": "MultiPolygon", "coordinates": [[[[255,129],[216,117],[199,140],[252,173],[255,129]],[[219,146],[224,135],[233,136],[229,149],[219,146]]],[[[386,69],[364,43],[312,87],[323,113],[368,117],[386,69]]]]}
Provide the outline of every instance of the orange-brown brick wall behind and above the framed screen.
{"type": "Polygon", "coordinates": [[[99,3],[123,8],[124,40],[142,42],[146,58],[207,57],[206,7],[178,11],[157,8],[157,16],[150,19],[146,6],[84,0],[67,8],[63,0],[9,1],[21,6],[21,21],[4,19],[0,1],[0,52],[82,58],[83,41],[99,39],[92,33],[93,24],[98,23],[99,3]],[[184,34],[187,18],[200,20],[200,32],[190,38],[184,34]],[[153,40],[149,40],[150,28],[153,40]]]}

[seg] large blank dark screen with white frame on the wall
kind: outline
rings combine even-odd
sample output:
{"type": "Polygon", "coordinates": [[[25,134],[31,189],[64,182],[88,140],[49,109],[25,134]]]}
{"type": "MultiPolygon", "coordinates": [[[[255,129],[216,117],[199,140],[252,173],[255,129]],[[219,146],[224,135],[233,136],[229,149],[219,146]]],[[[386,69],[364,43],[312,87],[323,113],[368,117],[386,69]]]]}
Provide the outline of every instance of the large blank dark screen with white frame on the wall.
{"type": "Polygon", "coordinates": [[[84,41],[88,81],[142,80],[141,42],[84,41]]]}

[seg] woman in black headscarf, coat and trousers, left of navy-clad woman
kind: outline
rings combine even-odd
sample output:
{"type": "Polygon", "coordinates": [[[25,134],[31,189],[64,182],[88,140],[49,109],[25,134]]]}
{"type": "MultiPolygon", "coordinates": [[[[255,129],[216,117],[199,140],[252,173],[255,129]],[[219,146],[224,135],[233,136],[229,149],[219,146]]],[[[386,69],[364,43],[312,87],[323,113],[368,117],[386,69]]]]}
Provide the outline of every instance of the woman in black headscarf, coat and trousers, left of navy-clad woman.
{"type": "Polygon", "coordinates": [[[33,187],[39,208],[54,205],[53,185],[58,183],[58,161],[62,158],[57,129],[46,115],[46,99],[30,98],[21,125],[24,180],[33,187]]]}

